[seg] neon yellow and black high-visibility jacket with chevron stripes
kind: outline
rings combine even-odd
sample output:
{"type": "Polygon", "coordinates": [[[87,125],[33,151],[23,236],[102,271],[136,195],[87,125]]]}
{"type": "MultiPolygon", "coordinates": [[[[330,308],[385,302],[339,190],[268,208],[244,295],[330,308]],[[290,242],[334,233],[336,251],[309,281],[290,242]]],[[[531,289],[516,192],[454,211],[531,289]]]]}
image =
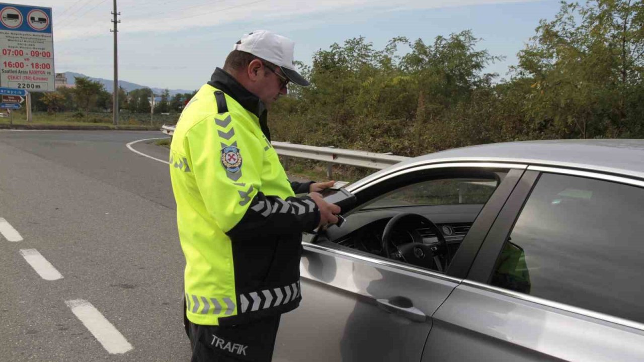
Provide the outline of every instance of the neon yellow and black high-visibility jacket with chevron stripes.
{"type": "Polygon", "coordinates": [[[319,224],[309,184],[290,183],[263,103],[219,68],[185,106],[170,151],[187,318],[231,325],[301,300],[301,233],[319,224]]]}

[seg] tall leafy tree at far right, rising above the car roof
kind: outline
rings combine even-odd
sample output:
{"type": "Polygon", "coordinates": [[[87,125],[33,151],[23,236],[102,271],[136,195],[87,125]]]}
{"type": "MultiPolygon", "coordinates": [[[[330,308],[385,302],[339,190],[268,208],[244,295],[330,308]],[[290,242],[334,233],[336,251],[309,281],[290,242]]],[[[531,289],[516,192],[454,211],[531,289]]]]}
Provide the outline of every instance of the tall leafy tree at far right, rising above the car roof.
{"type": "Polygon", "coordinates": [[[641,128],[642,1],[562,3],[519,53],[527,111],[549,137],[617,137],[641,128]]]}

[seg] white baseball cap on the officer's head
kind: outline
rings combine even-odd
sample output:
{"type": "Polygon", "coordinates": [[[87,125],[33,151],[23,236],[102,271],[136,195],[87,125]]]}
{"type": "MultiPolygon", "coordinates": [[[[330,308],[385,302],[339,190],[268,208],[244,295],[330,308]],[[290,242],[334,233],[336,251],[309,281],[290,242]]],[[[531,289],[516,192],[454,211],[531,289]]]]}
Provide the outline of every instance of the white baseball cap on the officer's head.
{"type": "Polygon", "coordinates": [[[265,61],[272,62],[279,66],[282,73],[289,81],[298,86],[308,86],[308,82],[296,70],[293,62],[294,41],[268,30],[256,30],[252,33],[242,35],[233,50],[251,53],[265,61]]]}

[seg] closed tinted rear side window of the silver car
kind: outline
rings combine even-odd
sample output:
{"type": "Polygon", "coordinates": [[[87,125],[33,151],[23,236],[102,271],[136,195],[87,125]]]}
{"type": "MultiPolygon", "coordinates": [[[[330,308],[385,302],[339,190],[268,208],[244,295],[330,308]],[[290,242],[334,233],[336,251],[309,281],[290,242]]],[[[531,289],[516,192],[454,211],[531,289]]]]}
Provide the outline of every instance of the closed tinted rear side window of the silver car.
{"type": "Polygon", "coordinates": [[[644,188],[544,174],[491,283],[644,322],[644,188]]]}

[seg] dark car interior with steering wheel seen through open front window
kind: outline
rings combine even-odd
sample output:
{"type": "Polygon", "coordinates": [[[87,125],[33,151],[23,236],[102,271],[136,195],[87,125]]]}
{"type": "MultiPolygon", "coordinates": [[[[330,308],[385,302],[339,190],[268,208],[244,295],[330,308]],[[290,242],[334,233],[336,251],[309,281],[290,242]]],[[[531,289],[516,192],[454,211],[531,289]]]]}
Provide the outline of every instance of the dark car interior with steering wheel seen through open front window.
{"type": "Polygon", "coordinates": [[[506,170],[435,169],[355,193],[346,221],[313,243],[445,272],[506,170]]]}

